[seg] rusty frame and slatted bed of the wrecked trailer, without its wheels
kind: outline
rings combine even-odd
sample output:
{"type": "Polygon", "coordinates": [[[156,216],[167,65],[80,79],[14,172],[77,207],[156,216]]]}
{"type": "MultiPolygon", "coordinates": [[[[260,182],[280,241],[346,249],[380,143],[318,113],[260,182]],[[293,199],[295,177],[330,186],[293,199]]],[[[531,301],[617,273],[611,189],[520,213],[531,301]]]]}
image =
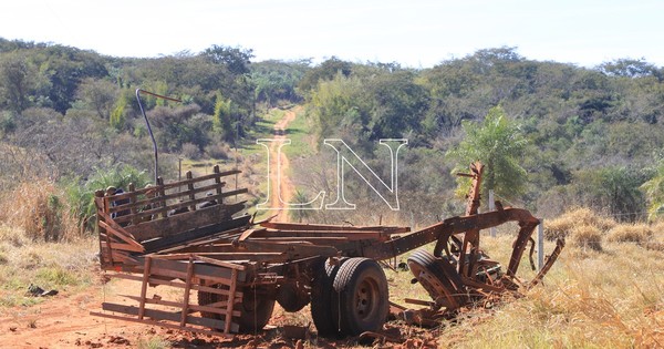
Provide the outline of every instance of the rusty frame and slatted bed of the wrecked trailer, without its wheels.
{"type": "MultiPolygon", "coordinates": [[[[218,167],[215,168],[212,175],[199,178],[187,175],[187,179],[169,184],[159,181],[157,187],[131,189],[128,193],[120,195],[105,195],[100,191],[96,193],[95,204],[97,206],[102,267],[107,270],[142,275],[137,279],[143,283],[142,295],[129,297],[139,301],[138,308],[105,307],[114,311],[124,311],[129,320],[144,321],[145,319],[142,318],[145,311],[143,310],[144,306],[151,302],[146,298],[146,287],[151,285],[178,286],[173,284],[172,279],[180,278],[185,281],[184,298],[187,301],[181,305],[183,310],[176,318],[177,324],[170,326],[200,331],[201,329],[197,325],[203,324],[205,327],[206,324],[212,322],[184,315],[201,309],[200,306],[188,304],[190,289],[210,289],[209,285],[222,281],[228,285],[231,295],[236,292],[236,289],[262,287],[263,297],[276,299],[280,287],[283,286],[284,292],[290,290],[294,297],[309,297],[313,276],[325,260],[334,261],[341,257],[385,260],[435,242],[433,254],[421,254],[422,258],[413,260],[417,267],[414,276],[429,292],[433,301],[407,300],[416,305],[424,305],[425,308],[398,310],[401,311],[400,316],[405,320],[408,320],[409,315],[411,318],[417,318],[418,324],[435,322],[436,319],[447,317],[457,309],[479,299],[506,291],[515,292],[522,285],[526,287],[537,285],[560,256],[564,246],[562,242],[559,242],[536,278],[529,284],[523,284],[517,277],[517,271],[528,243],[532,240],[532,233],[540,222],[526,209],[502,207],[498,202],[496,205],[498,209],[478,213],[483,171],[484,166],[475,163],[470,166],[469,174],[461,174],[471,178],[471,188],[464,216],[450,217],[417,232],[397,226],[355,227],[270,220],[256,224],[250,222],[248,216],[234,218],[231,215],[237,213],[240,206],[236,205],[236,207],[222,202],[221,198],[247,191],[221,193],[224,183],[220,177],[235,172],[222,173],[218,167]],[[211,186],[203,184],[204,181],[210,179],[216,184],[211,186]],[[198,188],[195,184],[198,185],[198,188]],[[167,189],[175,194],[166,194],[167,189]],[[220,208],[196,209],[196,205],[204,201],[204,198],[197,198],[196,195],[215,189],[217,189],[218,196],[215,198],[218,199],[220,208]],[[156,193],[156,196],[146,198],[148,191],[156,193]],[[114,202],[127,202],[127,198],[129,198],[128,203],[120,206],[112,205],[114,202]],[[141,211],[139,208],[145,205],[156,208],[148,207],[147,211],[141,211]],[[166,212],[183,207],[193,207],[194,209],[180,215],[179,218],[177,216],[166,217],[166,212]],[[221,208],[226,209],[222,212],[228,211],[228,214],[218,216],[221,208]],[[114,217],[113,213],[118,212],[129,212],[129,214],[114,217]],[[142,218],[151,216],[155,219],[143,222],[142,218]],[[215,219],[217,219],[216,223],[215,219]],[[480,230],[507,222],[518,223],[519,230],[507,268],[502,273],[500,265],[481,250],[480,230]],[[197,226],[197,224],[205,226],[197,226]],[[155,237],[172,244],[159,245],[149,240],[155,237]],[[153,263],[157,263],[159,267],[153,270],[151,268],[153,263]],[[240,273],[238,270],[241,270],[241,277],[236,280],[236,276],[228,274],[228,279],[219,280],[211,276],[204,266],[217,268],[215,270],[224,275],[230,270],[235,270],[232,275],[237,275],[240,273]],[[413,311],[415,311],[415,316],[413,316],[413,311]],[[193,326],[189,319],[196,326],[193,326]]],[[[242,205],[242,203],[238,205],[242,205]]],[[[232,299],[241,299],[241,291],[232,296],[232,299]]],[[[294,304],[299,307],[302,304],[305,305],[308,299],[294,304]]],[[[230,326],[230,319],[237,314],[232,310],[232,301],[228,300],[228,302],[230,306],[226,309],[230,310],[224,312],[227,319],[222,324],[225,335],[237,330],[237,326],[230,326]]],[[[400,309],[396,306],[394,308],[400,309]]],[[[159,311],[151,314],[153,318],[160,317],[162,320],[174,318],[173,315],[159,311]]],[[[220,326],[219,322],[214,322],[214,325],[220,326]]]]}

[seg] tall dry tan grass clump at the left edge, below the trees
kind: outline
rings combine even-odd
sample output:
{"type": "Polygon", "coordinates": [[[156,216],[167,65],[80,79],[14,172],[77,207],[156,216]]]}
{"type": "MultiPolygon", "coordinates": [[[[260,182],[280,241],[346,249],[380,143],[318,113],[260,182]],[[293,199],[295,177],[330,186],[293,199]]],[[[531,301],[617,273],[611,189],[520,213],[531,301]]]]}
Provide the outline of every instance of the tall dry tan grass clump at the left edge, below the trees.
{"type": "Polygon", "coordinates": [[[71,240],[79,227],[63,197],[50,181],[20,183],[0,202],[0,222],[23,230],[32,240],[71,240]]]}

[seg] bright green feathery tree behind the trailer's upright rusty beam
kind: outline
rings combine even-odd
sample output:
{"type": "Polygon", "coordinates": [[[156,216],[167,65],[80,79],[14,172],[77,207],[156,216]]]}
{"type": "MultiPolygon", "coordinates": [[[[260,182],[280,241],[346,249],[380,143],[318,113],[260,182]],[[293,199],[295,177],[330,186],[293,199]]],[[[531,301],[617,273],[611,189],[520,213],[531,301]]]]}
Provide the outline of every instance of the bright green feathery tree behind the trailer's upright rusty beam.
{"type": "MultiPolygon", "coordinates": [[[[520,163],[527,140],[520,125],[510,121],[498,105],[489,110],[484,122],[464,121],[461,127],[466,133],[465,138],[446,154],[457,161],[453,172],[466,172],[470,163],[480,161],[486,166],[483,192],[494,189],[507,198],[523,194],[527,173],[520,163]]],[[[460,179],[458,193],[467,193],[468,184],[468,181],[460,179]]]]}

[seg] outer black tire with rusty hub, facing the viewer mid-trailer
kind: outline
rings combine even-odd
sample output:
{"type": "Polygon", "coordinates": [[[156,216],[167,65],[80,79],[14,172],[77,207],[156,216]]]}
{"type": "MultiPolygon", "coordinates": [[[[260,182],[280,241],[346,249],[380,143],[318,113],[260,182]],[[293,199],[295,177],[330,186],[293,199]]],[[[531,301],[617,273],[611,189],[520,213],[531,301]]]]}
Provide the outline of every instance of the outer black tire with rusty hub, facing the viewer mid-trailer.
{"type": "Polygon", "coordinates": [[[336,274],[333,284],[338,295],[333,319],[342,336],[380,331],[390,312],[387,278],[373,259],[350,258],[336,274]]]}

